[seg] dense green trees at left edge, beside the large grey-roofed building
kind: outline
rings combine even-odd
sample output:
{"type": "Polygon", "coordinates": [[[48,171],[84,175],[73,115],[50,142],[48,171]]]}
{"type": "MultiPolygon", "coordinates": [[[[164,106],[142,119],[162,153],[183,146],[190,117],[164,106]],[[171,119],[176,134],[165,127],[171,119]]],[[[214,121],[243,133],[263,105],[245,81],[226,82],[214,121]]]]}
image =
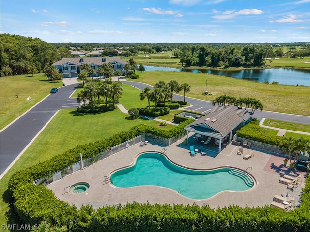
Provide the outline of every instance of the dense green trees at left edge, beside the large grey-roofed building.
{"type": "Polygon", "coordinates": [[[1,76],[41,73],[61,59],[59,51],[38,38],[1,34],[1,76]]]}

